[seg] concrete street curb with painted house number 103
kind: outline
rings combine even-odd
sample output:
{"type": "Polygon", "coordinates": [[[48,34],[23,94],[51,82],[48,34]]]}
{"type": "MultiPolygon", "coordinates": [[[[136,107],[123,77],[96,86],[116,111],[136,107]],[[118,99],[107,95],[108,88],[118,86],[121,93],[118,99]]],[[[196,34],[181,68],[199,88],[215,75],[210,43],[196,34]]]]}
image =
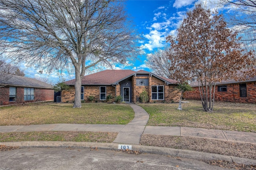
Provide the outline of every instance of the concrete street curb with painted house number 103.
{"type": "MultiPolygon", "coordinates": [[[[24,142],[0,142],[0,145],[29,148],[29,147],[63,147],[63,148],[98,148],[118,150],[118,143],[96,143],[96,142],[63,142],[63,141],[24,141],[24,142]]],[[[128,144],[131,145],[131,144],[128,144]]],[[[174,157],[192,158],[197,160],[225,160],[237,164],[256,165],[256,160],[239,158],[222,154],[196,152],[192,150],[172,149],[164,147],[152,147],[145,145],[132,145],[132,150],[145,153],[163,154],[174,157]]]]}

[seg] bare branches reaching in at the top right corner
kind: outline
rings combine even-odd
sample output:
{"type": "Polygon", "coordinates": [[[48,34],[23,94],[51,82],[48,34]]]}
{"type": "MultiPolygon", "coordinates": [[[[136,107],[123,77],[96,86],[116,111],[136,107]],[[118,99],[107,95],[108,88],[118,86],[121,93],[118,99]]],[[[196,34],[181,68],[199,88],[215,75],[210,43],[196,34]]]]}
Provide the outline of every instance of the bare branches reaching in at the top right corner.
{"type": "Polygon", "coordinates": [[[226,18],[228,25],[245,34],[242,36],[243,41],[256,43],[256,1],[220,0],[218,2],[230,11],[226,18]]]}

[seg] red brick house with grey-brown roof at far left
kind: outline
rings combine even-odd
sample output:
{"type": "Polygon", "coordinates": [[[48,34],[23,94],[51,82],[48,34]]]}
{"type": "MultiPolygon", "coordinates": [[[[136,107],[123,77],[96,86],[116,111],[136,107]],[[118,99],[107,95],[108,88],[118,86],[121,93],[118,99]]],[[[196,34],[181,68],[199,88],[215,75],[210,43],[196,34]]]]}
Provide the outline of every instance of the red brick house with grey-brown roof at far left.
{"type": "Polygon", "coordinates": [[[12,75],[8,80],[0,80],[0,106],[53,99],[53,86],[34,78],[12,75]]]}

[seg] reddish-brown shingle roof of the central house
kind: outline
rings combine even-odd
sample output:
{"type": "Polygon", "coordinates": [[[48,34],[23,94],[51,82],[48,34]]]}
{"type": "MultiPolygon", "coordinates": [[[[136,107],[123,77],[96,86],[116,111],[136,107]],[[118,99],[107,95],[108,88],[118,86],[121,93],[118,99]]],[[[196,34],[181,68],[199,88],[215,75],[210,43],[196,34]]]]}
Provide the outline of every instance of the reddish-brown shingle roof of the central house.
{"type": "MultiPolygon", "coordinates": [[[[111,85],[111,84],[117,83],[120,80],[123,80],[124,78],[128,78],[129,76],[132,76],[135,73],[152,74],[144,70],[139,70],[137,72],[132,70],[104,70],[104,71],[100,71],[94,74],[89,74],[87,76],[84,76],[84,78],[82,79],[82,85],[111,85]]],[[[172,79],[164,78],[160,76],[156,76],[156,77],[171,84],[177,83],[176,80],[172,80],[172,79]]],[[[65,83],[68,85],[75,85],[75,82],[76,82],[76,79],[73,79],[73,80],[66,81],[65,83]]]]}

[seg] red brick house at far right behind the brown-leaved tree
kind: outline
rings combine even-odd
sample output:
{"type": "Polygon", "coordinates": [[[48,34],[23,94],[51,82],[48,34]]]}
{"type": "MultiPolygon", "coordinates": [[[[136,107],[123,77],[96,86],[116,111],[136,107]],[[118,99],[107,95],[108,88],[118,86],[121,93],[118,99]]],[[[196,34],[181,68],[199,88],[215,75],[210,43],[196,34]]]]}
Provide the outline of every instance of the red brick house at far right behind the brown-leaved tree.
{"type": "MultiPolygon", "coordinates": [[[[193,91],[185,92],[183,98],[201,100],[198,84],[190,84],[193,91]]],[[[215,101],[256,103],[256,77],[246,81],[227,80],[216,83],[215,101]]]]}

